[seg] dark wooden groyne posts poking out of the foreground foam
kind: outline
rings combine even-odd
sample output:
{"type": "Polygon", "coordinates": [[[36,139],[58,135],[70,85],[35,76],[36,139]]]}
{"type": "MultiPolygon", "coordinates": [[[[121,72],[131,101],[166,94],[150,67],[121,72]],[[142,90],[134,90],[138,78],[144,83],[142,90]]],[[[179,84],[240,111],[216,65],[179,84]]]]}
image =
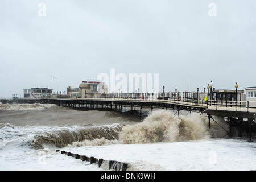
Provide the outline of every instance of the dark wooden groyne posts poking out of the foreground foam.
{"type": "Polygon", "coordinates": [[[66,154],[67,156],[72,156],[75,159],[80,159],[82,161],[86,161],[89,162],[90,164],[97,164],[98,167],[103,167],[104,164],[104,169],[107,170],[113,170],[113,171],[126,171],[128,168],[127,163],[123,163],[123,162],[118,162],[115,160],[104,160],[104,159],[97,159],[94,158],[93,156],[86,156],[86,155],[79,155],[79,154],[73,154],[71,152],[67,152],[67,151],[60,151],[60,150],[56,150],[56,152],[60,152],[60,154],[66,154]]]}

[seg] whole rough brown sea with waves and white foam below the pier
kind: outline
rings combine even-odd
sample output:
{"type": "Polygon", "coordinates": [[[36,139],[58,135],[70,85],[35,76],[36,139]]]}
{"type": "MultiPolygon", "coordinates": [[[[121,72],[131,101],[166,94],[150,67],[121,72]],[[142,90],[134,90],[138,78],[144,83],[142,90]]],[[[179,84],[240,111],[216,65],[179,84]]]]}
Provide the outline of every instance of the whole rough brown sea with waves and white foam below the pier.
{"type": "MultiPolygon", "coordinates": [[[[154,110],[142,121],[115,111],[0,103],[0,170],[104,170],[61,155],[118,160],[128,170],[256,170],[256,143],[228,138],[222,118],[154,110]]],[[[236,131],[234,131],[236,132],[236,131]]]]}

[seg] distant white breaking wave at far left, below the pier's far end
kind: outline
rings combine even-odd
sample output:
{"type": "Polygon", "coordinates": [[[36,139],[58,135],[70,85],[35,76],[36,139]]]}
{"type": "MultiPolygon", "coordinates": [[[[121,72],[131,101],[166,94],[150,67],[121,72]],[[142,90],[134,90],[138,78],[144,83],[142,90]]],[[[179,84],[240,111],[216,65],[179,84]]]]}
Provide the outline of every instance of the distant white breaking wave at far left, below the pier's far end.
{"type": "Polygon", "coordinates": [[[0,110],[43,110],[49,109],[55,104],[2,104],[0,103],[0,110]]]}

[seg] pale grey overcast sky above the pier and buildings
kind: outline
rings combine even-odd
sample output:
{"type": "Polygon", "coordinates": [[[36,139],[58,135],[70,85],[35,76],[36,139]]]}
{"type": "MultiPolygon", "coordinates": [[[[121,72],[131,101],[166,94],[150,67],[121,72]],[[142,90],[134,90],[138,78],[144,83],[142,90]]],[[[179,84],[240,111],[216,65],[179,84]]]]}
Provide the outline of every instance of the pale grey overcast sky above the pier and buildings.
{"type": "Polygon", "coordinates": [[[255,0],[1,0],[0,97],[63,91],[110,68],[159,73],[168,91],[188,90],[189,76],[190,90],[256,86],[255,20],[255,0]]]}

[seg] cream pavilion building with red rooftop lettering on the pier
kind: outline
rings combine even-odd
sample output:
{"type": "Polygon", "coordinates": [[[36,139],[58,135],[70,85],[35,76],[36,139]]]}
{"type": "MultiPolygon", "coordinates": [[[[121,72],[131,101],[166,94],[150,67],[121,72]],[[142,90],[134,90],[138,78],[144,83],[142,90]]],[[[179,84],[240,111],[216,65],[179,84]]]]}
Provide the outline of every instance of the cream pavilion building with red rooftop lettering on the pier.
{"type": "Polygon", "coordinates": [[[68,97],[89,98],[101,96],[102,93],[108,93],[108,85],[100,81],[82,81],[79,88],[67,88],[68,97]]]}

